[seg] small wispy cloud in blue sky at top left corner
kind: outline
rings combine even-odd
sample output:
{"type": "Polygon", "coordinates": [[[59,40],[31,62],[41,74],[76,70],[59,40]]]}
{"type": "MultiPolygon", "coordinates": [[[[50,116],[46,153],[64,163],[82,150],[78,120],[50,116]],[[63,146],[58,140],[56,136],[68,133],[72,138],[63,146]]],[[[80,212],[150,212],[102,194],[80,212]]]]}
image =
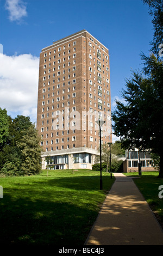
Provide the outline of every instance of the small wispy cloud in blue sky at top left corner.
{"type": "Polygon", "coordinates": [[[26,4],[22,0],[6,0],[5,9],[9,11],[10,21],[20,21],[27,16],[26,4]]]}

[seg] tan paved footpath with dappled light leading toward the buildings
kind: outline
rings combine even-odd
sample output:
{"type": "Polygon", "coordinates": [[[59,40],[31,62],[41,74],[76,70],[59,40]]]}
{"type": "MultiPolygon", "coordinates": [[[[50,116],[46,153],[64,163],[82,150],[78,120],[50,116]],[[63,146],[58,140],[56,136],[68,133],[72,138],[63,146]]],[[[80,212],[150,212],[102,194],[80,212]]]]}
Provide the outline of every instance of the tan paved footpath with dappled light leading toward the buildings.
{"type": "Polygon", "coordinates": [[[85,245],[163,245],[163,230],[133,179],[114,176],[85,245]]]}

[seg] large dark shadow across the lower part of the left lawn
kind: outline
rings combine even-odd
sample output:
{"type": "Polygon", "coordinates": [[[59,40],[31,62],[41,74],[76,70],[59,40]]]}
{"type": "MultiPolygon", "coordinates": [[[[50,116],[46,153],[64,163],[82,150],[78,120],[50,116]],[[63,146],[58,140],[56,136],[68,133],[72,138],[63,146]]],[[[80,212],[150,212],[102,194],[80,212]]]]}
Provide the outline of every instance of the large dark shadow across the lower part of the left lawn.
{"type": "Polygon", "coordinates": [[[96,211],[73,203],[12,201],[9,196],[5,200],[10,205],[1,206],[1,244],[83,245],[97,216],[96,211]]]}

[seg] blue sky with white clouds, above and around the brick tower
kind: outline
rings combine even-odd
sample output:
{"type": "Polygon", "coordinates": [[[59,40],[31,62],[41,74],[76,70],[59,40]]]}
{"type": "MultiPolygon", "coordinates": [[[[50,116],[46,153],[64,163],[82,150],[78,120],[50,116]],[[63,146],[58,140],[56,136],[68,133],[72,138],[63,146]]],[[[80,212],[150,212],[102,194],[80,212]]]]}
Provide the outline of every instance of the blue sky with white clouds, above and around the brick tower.
{"type": "Polygon", "coordinates": [[[131,69],[149,54],[152,17],[141,0],[0,0],[0,107],[36,121],[39,55],[53,41],[86,29],[109,48],[111,106],[131,69]],[[1,47],[0,47],[1,50],[1,47]]]}

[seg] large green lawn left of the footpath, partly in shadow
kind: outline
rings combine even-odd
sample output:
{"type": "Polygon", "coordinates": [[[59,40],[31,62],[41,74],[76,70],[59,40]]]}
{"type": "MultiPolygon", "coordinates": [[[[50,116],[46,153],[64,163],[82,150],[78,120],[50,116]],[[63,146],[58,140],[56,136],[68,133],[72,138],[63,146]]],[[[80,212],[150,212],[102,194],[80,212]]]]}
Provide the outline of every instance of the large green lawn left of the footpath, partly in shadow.
{"type": "Polygon", "coordinates": [[[47,170],[0,178],[0,243],[84,245],[114,176],[91,170],[47,170]]]}

